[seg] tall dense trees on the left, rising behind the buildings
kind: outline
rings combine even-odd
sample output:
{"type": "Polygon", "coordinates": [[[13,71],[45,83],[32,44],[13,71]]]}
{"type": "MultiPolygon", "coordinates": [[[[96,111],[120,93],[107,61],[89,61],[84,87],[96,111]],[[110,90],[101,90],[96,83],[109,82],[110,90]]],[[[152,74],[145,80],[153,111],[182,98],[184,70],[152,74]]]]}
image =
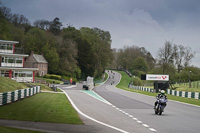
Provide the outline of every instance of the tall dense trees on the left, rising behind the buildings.
{"type": "Polygon", "coordinates": [[[100,77],[113,59],[109,31],[63,27],[57,17],[52,21],[36,20],[31,25],[25,16],[12,14],[1,5],[0,38],[19,41],[16,47],[23,47],[25,54],[43,54],[49,73],[68,77],[100,77]]]}

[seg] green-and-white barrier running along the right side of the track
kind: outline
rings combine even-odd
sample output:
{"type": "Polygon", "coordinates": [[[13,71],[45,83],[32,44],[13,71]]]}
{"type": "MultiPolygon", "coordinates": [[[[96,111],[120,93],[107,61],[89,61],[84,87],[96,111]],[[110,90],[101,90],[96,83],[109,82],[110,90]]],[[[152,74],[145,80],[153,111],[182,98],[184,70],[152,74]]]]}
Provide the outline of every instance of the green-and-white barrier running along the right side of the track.
{"type": "MultiPolygon", "coordinates": [[[[145,87],[142,87],[142,86],[132,86],[132,85],[130,85],[129,88],[141,90],[141,91],[154,92],[154,89],[145,88],[145,87]]],[[[179,97],[200,99],[200,93],[199,92],[185,92],[185,91],[176,91],[176,90],[167,89],[167,94],[179,96],[179,97]]]]}

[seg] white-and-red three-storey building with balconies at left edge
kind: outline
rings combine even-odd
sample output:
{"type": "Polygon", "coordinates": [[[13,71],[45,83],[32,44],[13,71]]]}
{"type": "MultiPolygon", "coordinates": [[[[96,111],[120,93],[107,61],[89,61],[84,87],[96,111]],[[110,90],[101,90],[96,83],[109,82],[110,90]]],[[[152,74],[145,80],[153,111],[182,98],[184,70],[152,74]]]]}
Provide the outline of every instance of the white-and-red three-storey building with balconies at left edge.
{"type": "Polygon", "coordinates": [[[25,54],[16,54],[17,41],[0,40],[0,76],[17,82],[34,82],[38,68],[24,68],[25,54]]]}

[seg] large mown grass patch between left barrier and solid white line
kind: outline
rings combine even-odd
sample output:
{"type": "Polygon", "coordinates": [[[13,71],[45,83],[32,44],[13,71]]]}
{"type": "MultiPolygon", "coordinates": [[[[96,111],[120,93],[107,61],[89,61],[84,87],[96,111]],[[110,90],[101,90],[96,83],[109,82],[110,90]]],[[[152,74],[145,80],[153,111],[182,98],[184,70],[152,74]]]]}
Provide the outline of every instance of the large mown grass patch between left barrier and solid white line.
{"type": "Polygon", "coordinates": [[[83,124],[64,94],[39,93],[0,107],[0,119],[83,124]]]}

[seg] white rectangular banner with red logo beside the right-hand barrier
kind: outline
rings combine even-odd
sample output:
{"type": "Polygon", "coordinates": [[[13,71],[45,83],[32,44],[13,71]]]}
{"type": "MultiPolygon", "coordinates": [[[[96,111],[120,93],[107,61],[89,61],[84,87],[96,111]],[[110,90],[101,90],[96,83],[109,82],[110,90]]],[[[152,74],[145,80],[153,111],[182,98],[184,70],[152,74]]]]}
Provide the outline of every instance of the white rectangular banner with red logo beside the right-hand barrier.
{"type": "Polygon", "coordinates": [[[147,74],[146,75],[146,80],[169,81],[169,75],[147,74]]]}

